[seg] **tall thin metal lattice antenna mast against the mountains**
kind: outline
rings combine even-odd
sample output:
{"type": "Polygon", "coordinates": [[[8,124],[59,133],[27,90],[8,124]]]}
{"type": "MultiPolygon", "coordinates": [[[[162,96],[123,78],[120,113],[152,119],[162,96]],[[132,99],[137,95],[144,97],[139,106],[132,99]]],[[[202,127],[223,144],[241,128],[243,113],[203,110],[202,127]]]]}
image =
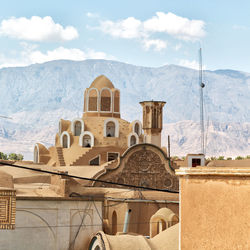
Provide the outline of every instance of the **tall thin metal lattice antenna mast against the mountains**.
{"type": "Polygon", "coordinates": [[[202,54],[201,48],[199,49],[199,85],[200,85],[200,127],[201,127],[201,153],[205,154],[205,140],[204,140],[204,101],[203,101],[203,88],[205,84],[202,79],[202,54]]]}

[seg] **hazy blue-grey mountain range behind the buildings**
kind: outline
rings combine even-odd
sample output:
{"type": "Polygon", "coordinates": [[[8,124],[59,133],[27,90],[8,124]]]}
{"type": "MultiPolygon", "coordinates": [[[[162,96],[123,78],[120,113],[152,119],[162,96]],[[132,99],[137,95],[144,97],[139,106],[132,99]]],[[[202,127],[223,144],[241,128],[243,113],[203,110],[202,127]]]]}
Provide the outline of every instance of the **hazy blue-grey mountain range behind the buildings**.
{"type": "MultiPolygon", "coordinates": [[[[140,67],[107,60],[59,60],[0,69],[0,115],[13,118],[0,120],[0,151],[20,152],[31,158],[35,142],[53,144],[59,119],[82,115],[83,92],[100,74],[120,89],[122,118],[141,119],[140,101],[166,101],[163,138],[167,134],[173,138],[172,153],[199,151],[198,141],[193,140],[199,139],[196,70],[176,65],[140,67]]],[[[207,152],[250,154],[250,74],[205,71],[204,82],[205,120],[209,121],[207,152]],[[223,130],[226,127],[236,132],[223,130]]]]}

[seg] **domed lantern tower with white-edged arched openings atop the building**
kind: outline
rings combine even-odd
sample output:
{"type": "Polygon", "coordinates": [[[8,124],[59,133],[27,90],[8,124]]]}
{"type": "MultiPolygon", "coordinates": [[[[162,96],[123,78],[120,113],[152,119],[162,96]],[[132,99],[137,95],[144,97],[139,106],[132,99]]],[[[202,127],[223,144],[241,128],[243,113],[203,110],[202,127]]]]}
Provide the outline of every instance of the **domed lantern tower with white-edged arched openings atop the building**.
{"type": "Polygon", "coordinates": [[[84,92],[83,111],[83,117],[120,118],[120,91],[106,76],[98,76],[84,92]]]}

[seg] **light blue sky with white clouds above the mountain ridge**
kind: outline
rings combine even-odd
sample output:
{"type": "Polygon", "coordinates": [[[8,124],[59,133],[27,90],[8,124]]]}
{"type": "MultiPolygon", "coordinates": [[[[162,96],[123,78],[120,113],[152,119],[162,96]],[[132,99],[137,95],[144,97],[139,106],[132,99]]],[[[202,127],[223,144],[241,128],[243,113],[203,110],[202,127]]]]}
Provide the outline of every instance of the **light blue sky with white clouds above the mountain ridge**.
{"type": "Polygon", "coordinates": [[[8,0],[0,68],[108,59],[250,72],[250,1],[8,0]]]}

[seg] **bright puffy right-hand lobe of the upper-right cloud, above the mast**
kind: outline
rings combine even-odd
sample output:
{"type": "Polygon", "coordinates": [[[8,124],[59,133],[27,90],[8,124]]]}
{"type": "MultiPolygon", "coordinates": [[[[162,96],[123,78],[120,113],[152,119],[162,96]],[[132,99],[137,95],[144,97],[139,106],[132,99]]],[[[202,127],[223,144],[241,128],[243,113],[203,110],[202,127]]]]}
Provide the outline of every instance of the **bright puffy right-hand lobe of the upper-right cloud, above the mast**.
{"type": "Polygon", "coordinates": [[[162,32],[182,40],[197,40],[205,35],[205,23],[201,20],[189,20],[171,12],[156,12],[156,16],[146,20],[144,29],[149,32],[162,32]]]}

